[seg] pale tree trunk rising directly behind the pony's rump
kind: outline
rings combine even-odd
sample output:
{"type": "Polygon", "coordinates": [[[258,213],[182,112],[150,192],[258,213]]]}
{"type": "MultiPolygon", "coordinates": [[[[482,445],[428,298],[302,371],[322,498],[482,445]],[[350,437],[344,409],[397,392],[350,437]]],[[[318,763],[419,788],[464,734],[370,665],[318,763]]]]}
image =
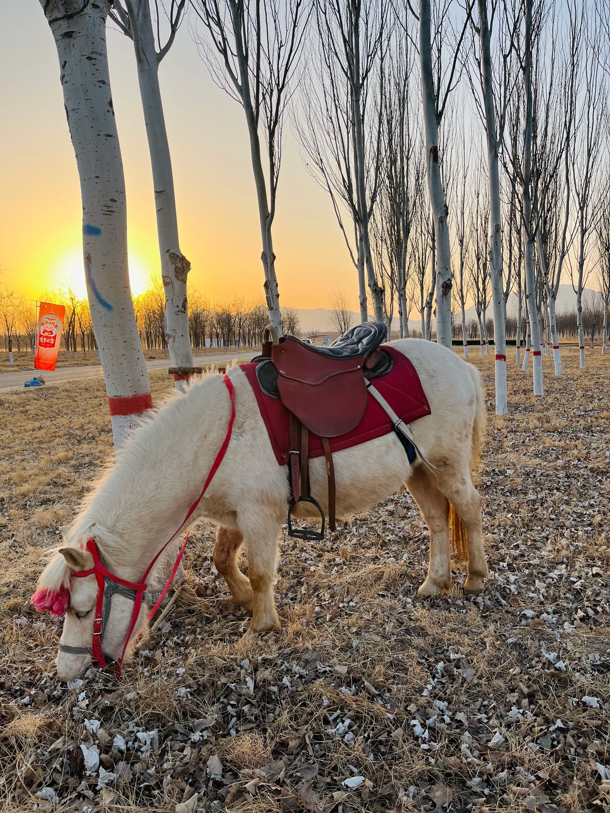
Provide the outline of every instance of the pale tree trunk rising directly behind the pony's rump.
{"type": "Polygon", "coordinates": [[[421,96],[424,107],[425,163],[430,206],[436,235],[436,338],[451,350],[451,246],[447,228],[447,202],[442,189],[438,155],[436,93],[430,41],[430,0],[420,0],[421,96]]]}

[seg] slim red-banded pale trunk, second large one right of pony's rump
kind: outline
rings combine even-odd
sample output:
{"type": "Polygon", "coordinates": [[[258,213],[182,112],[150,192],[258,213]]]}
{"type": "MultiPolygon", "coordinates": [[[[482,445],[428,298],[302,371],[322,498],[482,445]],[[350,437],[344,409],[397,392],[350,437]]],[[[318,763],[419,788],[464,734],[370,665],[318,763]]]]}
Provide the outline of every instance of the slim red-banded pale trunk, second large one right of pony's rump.
{"type": "MultiPolygon", "coordinates": [[[[525,92],[525,132],[523,139],[523,233],[525,241],[525,280],[527,286],[527,307],[529,331],[531,334],[534,395],[542,395],[542,344],[538,308],[536,307],[536,283],[534,272],[534,234],[532,233],[532,5],[533,0],[525,0],[525,59],[523,85],[525,92]]],[[[527,348],[525,350],[527,354],[527,348]]]]}

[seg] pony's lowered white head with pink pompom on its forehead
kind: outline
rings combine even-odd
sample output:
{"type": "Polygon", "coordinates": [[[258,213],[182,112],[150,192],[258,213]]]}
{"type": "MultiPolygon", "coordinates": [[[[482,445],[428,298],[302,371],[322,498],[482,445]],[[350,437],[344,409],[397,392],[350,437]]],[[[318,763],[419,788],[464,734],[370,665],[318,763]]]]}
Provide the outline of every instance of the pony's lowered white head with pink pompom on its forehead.
{"type": "MultiPolygon", "coordinates": [[[[93,529],[91,529],[93,530],[93,529]]],[[[90,533],[87,539],[100,541],[102,528],[90,533]]],[[[57,675],[60,680],[74,680],[91,665],[91,641],[94,632],[95,605],[98,582],[95,576],[74,578],[75,572],[87,571],[94,566],[93,557],[85,550],[85,542],[70,541],[54,553],[41,572],[37,592],[32,603],[38,612],[63,615],[63,633],[57,655],[57,675]],[[82,544],[82,547],[81,547],[82,544]]],[[[111,563],[108,563],[111,567],[111,563]]],[[[104,624],[102,650],[107,663],[120,657],[133,611],[133,601],[120,592],[108,589],[104,594],[104,624]],[[107,606],[109,603],[109,606],[107,606]]],[[[146,627],[146,606],[138,615],[133,638],[146,627]]],[[[133,647],[129,647],[129,650],[133,647]]]]}

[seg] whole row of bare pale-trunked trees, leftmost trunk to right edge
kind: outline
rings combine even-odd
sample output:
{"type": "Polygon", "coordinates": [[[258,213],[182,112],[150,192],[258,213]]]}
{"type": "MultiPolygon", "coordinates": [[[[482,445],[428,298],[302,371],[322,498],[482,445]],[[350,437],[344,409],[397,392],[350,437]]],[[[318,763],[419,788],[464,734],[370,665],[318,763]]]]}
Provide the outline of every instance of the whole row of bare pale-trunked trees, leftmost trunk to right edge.
{"type": "MultiPolygon", "coordinates": [[[[81,176],[85,276],[111,407],[112,398],[121,408],[125,398],[133,401],[133,412],[113,418],[117,442],[150,406],[150,391],[138,341],[143,317],[131,307],[127,277],[109,19],[133,41],[154,181],[163,303],[158,312],[146,311],[146,341],[164,342],[177,366],[192,364],[194,323],[158,72],[187,14],[212,78],[244,111],[264,294],[278,332],[272,228],[290,117],[346,241],[361,320],[370,310],[391,324],[396,310],[407,335],[415,308],[422,336],[433,336],[435,320],[437,341],[450,347],[461,311],[466,353],[465,301],[472,298],[486,342],[493,316],[496,411],[503,414],[508,296],[516,291],[518,336],[526,325],[524,369],[531,354],[534,393],[542,394],[543,333],[561,372],[555,309],[569,272],[584,366],[587,276],[600,276],[603,296],[610,288],[604,168],[610,35],[601,6],[586,0],[419,0],[416,8],[410,0],[41,5],[58,49],[81,176]],[[162,311],[163,329],[154,329],[162,311]],[[125,346],[131,362],[118,364],[125,346]]],[[[225,321],[218,337],[242,336],[241,326],[225,321]]]]}

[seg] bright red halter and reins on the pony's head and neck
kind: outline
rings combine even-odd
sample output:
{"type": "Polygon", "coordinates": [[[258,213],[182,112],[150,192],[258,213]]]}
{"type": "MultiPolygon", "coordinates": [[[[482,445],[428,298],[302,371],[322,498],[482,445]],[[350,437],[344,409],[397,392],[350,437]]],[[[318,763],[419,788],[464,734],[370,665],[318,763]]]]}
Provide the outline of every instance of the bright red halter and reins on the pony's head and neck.
{"type": "MultiPolygon", "coordinates": [[[[129,640],[131,639],[133,628],[135,628],[137,624],[137,616],[140,615],[140,608],[142,607],[142,600],[144,598],[144,591],[146,590],[146,578],[150,573],[150,570],[154,566],[159,556],[163,553],[163,550],[167,548],[169,543],[173,541],[176,536],[181,532],[182,528],[185,527],[185,524],[190,519],[190,516],[193,514],[195,508],[198,506],[199,501],[203,498],[203,494],[206,493],[207,486],[210,485],[212,477],[216,474],[220,463],[222,463],[222,459],[224,458],[224,453],[229,446],[229,441],[231,440],[231,433],[233,432],[233,421],[235,420],[235,390],[233,388],[233,383],[229,379],[229,376],[223,377],[224,384],[226,388],[229,390],[229,398],[231,398],[231,416],[229,418],[229,427],[227,428],[227,433],[224,437],[224,441],[222,446],[220,446],[220,450],[218,454],[216,454],[216,459],[212,464],[210,469],[210,473],[207,475],[207,479],[203,484],[203,489],[199,494],[198,498],[194,501],[193,505],[190,506],[189,511],[187,511],[184,520],[181,523],[180,528],[177,528],[175,533],[172,533],[172,536],[169,537],[168,541],[163,545],[159,553],[155,555],[155,558],[150,562],[149,566],[146,567],[144,575],[140,580],[139,584],[135,581],[128,581],[126,579],[120,579],[119,576],[115,576],[114,573],[108,570],[106,565],[102,562],[100,558],[99,550],[97,542],[94,539],[87,540],[86,550],[89,551],[89,554],[93,557],[94,560],[94,567],[90,567],[89,570],[79,570],[72,573],[72,576],[75,576],[76,579],[85,578],[85,576],[92,576],[95,574],[95,578],[98,582],[98,597],[95,602],[95,620],[94,620],[94,632],[91,638],[91,663],[97,664],[99,667],[106,667],[106,658],[102,651],[102,635],[103,635],[103,627],[104,627],[104,615],[103,615],[103,607],[104,607],[104,594],[106,592],[106,580],[114,581],[115,584],[121,585],[129,590],[133,590],[135,592],[135,598],[133,599],[133,611],[131,615],[131,622],[129,624],[129,630],[127,631],[127,637],[125,637],[125,643],[123,646],[123,651],[120,654],[120,658],[116,662],[116,676],[120,677],[120,670],[121,664],[123,663],[125,650],[127,650],[127,645],[129,644],[129,640]]],[[[155,606],[150,611],[148,616],[148,620],[155,615],[155,612],[159,608],[159,604],[163,601],[165,593],[168,592],[169,586],[172,584],[174,576],[176,576],[176,571],[180,565],[182,554],[185,552],[186,543],[189,541],[189,534],[186,534],[184,544],[181,547],[180,553],[176,558],[176,563],[172,568],[172,573],[169,576],[168,582],[163,588],[159,599],[155,603],[155,606]]],[[[108,598],[110,601],[110,598],[108,598]]],[[[66,647],[66,650],[70,651],[75,649],[74,647],[66,647]]],[[[80,649],[80,647],[79,647],[80,649]]]]}

